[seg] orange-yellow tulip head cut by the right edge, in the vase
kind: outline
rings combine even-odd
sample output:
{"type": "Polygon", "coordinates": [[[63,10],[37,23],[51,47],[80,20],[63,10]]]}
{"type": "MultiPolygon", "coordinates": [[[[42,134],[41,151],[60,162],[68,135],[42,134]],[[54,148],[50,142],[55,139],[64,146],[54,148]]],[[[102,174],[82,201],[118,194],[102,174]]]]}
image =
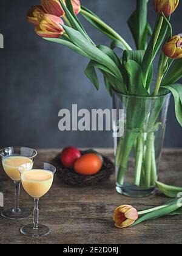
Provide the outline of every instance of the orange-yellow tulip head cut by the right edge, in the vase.
{"type": "Polygon", "coordinates": [[[170,59],[182,58],[182,34],[170,38],[163,47],[164,54],[170,59]]]}

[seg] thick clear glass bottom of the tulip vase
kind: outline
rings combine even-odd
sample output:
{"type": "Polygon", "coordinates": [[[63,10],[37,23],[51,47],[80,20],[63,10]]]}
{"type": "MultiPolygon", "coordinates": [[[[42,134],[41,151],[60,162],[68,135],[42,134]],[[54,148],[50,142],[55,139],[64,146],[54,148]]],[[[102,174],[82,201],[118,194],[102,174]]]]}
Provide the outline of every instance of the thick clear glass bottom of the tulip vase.
{"type": "Polygon", "coordinates": [[[123,186],[116,184],[116,191],[119,194],[129,197],[147,197],[152,196],[155,193],[156,187],[152,186],[150,188],[140,188],[135,185],[130,185],[129,183],[124,183],[123,186]]]}

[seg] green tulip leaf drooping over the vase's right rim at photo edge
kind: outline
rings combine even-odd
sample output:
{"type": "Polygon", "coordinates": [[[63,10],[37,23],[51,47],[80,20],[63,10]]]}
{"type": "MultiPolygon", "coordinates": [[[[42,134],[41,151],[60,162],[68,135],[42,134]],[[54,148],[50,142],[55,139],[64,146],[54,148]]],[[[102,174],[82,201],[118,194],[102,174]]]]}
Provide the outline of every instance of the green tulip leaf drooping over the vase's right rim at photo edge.
{"type": "Polygon", "coordinates": [[[180,125],[182,126],[182,85],[165,85],[162,88],[168,89],[173,94],[175,101],[175,113],[177,116],[178,123],[180,123],[180,125]]]}

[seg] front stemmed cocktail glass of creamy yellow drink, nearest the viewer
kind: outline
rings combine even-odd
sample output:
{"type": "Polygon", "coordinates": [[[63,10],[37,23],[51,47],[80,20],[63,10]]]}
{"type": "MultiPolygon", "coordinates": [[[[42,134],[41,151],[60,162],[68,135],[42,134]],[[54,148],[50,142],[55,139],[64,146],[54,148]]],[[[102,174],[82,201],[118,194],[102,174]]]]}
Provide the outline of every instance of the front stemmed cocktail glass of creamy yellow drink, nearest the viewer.
{"type": "Polygon", "coordinates": [[[35,208],[33,210],[33,224],[21,228],[23,235],[39,238],[49,235],[50,229],[39,224],[39,199],[52,187],[56,168],[49,163],[25,163],[19,167],[21,182],[24,190],[33,197],[35,208]]]}

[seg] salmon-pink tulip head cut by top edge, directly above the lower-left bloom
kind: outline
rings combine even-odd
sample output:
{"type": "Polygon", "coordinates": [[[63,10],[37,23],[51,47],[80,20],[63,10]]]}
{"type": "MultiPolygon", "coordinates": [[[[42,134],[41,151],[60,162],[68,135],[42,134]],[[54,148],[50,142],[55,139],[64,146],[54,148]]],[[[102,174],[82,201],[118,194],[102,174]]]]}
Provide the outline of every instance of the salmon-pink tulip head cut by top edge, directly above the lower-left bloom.
{"type": "Polygon", "coordinates": [[[64,16],[64,10],[62,9],[59,0],[41,0],[41,5],[46,13],[62,17],[64,16]]]}

